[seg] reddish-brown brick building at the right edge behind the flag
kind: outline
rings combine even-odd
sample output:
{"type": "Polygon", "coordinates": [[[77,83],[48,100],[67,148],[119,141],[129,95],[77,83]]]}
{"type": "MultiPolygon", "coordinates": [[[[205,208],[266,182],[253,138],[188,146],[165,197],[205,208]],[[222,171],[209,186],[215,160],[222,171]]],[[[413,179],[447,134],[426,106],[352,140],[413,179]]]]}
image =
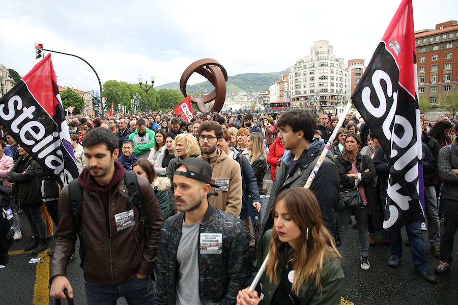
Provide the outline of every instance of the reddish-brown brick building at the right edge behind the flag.
{"type": "Polygon", "coordinates": [[[433,107],[456,102],[458,71],[458,23],[436,24],[435,29],[415,32],[418,95],[433,107]]]}

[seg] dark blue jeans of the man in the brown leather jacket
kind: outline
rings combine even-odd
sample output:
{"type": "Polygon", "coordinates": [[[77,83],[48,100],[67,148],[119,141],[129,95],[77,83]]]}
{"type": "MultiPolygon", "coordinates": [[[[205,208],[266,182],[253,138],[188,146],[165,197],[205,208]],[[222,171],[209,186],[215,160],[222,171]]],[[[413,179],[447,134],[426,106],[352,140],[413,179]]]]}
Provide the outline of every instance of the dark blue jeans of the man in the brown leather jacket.
{"type": "Polygon", "coordinates": [[[116,305],[116,300],[125,297],[129,305],[154,305],[154,287],[151,277],[133,278],[119,285],[98,285],[84,281],[88,305],[116,305]]]}

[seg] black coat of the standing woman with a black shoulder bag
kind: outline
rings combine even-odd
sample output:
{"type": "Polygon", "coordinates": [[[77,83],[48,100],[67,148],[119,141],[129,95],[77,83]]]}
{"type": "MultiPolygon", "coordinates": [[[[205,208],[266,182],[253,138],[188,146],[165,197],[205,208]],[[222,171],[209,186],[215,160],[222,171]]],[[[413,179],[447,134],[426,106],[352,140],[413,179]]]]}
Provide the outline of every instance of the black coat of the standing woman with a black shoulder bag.
{"type": "MultiPolygon", "coordinates": [[[[335,159],[335,165],[339,172],[340,190],[353,189],[355,187],[355,178],[347,176],[347,173],[352,169],[352,163],[346,161],[344,157],[338,156],[335,159]]],[[[377,176],[374,161],[368,156],[363,156],[358,153],[356,156],[356,168],[358,172],[361,168],[361,181],[359,182],[364,186],[364,195],[366,196],[367,206],[369,207],[370,216],[376,229],[381,228],[382,220],[380,217],[380,209],[377,201],[377,192],[374,185],[374,179],[377,176]],[[362,163],[362,165],[361,165],[362,163]],[[368,169],[368,172],[364,172],[368,169]]]]}

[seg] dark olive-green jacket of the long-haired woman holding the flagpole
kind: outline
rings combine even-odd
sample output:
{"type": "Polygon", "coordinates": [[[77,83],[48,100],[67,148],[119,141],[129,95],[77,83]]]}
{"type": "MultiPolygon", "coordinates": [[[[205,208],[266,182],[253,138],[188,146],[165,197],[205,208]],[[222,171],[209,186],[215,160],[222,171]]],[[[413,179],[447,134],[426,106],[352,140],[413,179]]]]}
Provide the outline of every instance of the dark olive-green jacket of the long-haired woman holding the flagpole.
{"type": "MultiPolygon", "coordinates": [[[[261,267],[264,259],[269,253],[270,239],[272,235],[272,229],[266,231],[261,240],[259,250],[257,253],[257,260],[254,263],[255,268],[253,276],[256,275],[257,270],[261,267]]],[[[284,246],[281,246],[283,249],[284,246]]],[[[281,276],[284,266],[286,264],[286,257],[284,251],[279,251],[278,258],[280,259],[279,269],[277,276],[281,276]]],[[[323,270],[321,271],[321,286],[323,292],[314,281],[304,282],[299,291],[299,300],[301,305],[335,305],[340,304],[340,297],[342,295],[342,288],[344,286],[344,271],[340,265],[340,261],[337,256],[333,256],[325,259],[323,263],[323,270]]],[[[263,284],[262,293],[264,294],[263,303],[270,304],[272,297],[277,289],[278,283],[271,283],[267,272],[261,277],[260,283],[263,284]]]]}

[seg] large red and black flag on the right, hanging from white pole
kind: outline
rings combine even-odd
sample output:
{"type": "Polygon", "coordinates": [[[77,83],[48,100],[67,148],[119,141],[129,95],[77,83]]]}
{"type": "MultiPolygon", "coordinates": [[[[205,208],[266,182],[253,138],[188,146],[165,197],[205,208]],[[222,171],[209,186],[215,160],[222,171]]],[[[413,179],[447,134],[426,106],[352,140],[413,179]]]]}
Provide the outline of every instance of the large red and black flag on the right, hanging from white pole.
{"type": "Polygon", "coordinates": [[[387,238],[405,224],[423,218],[416,71],[412,1],[403,0],[352,95],[388,157],[390,174],[383,222],[387,238]]]}

